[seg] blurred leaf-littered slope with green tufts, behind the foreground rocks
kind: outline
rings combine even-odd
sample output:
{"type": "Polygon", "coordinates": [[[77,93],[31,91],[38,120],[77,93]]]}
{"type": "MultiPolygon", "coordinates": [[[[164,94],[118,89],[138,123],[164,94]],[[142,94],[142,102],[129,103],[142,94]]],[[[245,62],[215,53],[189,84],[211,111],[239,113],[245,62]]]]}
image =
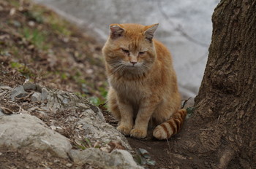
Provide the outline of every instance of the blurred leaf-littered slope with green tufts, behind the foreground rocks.
{"type": "Polygon", "coordinates": [[[29,79],[102,101],[106,82],[100,50],[94,39],[45,7],[0,1],[0,68],[7,76],[22,74],[19,84],[29,79]]]}

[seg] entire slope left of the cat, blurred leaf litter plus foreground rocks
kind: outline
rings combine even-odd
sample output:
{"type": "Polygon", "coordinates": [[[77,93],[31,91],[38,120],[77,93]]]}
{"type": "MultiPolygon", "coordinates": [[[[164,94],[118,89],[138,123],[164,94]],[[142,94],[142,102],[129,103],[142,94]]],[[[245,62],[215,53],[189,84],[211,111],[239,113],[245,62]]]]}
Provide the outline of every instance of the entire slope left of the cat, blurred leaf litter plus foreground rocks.
{"type": "Polygon", "coordinates": [[[0,1],[0,168],[140,168],[84,97],[105,95],[100,49],[44,7],[0,1]]]}

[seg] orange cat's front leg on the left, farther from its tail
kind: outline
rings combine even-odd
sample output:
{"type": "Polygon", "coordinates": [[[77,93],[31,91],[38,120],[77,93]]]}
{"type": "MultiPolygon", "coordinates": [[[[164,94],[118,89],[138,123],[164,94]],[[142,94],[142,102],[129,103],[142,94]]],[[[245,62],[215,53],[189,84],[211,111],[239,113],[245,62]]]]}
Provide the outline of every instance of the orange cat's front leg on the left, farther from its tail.
{"type": "Polygon", "coordinates": [[[118,107],[120,109],[121,119],[116,129],[124,135],[129,135],[133,127],[133,109],[129,103],[119,101],[118,107]]]}

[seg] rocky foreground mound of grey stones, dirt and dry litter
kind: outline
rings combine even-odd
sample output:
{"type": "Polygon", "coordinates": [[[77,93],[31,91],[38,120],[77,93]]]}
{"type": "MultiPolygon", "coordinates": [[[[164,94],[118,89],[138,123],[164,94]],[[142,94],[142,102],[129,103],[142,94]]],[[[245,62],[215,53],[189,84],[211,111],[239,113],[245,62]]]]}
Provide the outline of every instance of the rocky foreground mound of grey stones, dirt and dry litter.
{"type": "Polygon", "coordinates": [[[25,83],[0,86],[0,102],[1,168],[140,168],[85,98],[25,83]]]}

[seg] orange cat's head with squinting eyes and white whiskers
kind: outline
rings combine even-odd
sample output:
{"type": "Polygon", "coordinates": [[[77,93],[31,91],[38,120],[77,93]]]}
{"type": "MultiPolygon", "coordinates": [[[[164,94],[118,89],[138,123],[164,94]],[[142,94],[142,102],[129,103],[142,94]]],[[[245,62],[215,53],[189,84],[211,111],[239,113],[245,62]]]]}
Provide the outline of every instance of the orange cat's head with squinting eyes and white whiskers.
{"type": "Polygon", "coordinates": [[[156,59],[153,36],[158,24],[111,24],[110,36],[103,47],[108,68],[112,72],[143,74],[156,59]]]}

